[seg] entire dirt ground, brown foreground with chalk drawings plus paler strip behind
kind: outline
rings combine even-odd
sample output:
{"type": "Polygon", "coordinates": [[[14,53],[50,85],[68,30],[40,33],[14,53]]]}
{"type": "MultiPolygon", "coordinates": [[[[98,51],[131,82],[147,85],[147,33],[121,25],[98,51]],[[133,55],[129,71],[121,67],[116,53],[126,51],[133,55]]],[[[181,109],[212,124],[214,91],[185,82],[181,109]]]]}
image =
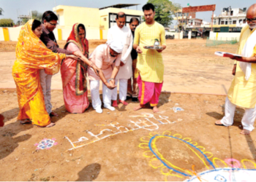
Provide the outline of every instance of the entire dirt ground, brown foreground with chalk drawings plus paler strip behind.
{"type": "MultiPolygon", "coordinates": [[[[56,126],[50,128],[16,122],[19,108],[10,71],[15,52],[0,52],[0,114],[5,117],[0,128],[0,181],[184,181],[188,173],[227,167],[229,159],[255,169],[256,132],[239,134],[244,109],[236,108],[233,126],[216,126],[225,95],[197,94],[225,94],[233,61],[213,53],[235,52],[237,45],[205,44],[206,40],[167,41],[167,92],[160,96],[158,114],[151,108],[133,111],[138,103],[130,100],[116,111],[104,108],[97,114],[90,106],[83,114],[69,114],[62,91],[53,90],[53,111],[59,116],[52,118],[56,126]],[[54,144],[39,149],[46,138],[54,144]]],[[[60,78],[53,79],[61,88],[60,78]]]]}

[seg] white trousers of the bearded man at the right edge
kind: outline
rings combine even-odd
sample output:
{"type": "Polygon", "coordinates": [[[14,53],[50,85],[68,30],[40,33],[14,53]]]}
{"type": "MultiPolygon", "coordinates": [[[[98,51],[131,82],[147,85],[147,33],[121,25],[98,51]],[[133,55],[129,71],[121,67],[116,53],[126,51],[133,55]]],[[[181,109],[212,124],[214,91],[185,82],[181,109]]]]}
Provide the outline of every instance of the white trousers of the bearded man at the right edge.
{"type": "MultiPolygon", "coordinates": [[[[242,119],[243,128],[245,130],[252,131],[255,127],[253,124],[256,118],[256,106],[255,108],[244,108],[244,116],[242,119]]],[[[236,111],[236,105],[231,103],[228,98],[225,101],[225,116],[220,121],[226,127],[231,126],[233,124],[233,118],[236,111]]]]}

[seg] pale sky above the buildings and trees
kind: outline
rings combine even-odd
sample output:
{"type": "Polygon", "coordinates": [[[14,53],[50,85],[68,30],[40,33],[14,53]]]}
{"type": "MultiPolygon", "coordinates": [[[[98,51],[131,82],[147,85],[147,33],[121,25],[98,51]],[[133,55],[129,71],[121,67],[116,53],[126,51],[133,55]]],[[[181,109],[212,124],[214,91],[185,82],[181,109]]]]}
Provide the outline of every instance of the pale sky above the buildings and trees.
{"type": "MultiPolygon", "coordinates": [[[[146,4],[148,0],[0,0],[0,7],[4,9],[1,18],[11,18],[18,21],[18,15],[29,15],[32,10],[37,10],[38,12],[45,12],[47,10],[53,10],[55,4],[58,5],[68,5],[74,7],[108,7],[113,4],[140,4],[138,5],[138,10],[141,10],[143,5],[146,4]]],[[[223,7],[231,8],[244,8],[256,3],[255,0],[173,0],[175,3],[181,4],[181,7],[190,6],[202,6],[207,4],[216,4],[216,10],[214,15],[219,15],[223,7]]],[[[136,9],[136,7],[129,7],[129,9],[136,9]]],[[[205,21],[211,21],[212,12],[197,12],[196,17],[203,19],[205,21]]],[[[173,22],[175,24],[175,22],[173,22]]]]}

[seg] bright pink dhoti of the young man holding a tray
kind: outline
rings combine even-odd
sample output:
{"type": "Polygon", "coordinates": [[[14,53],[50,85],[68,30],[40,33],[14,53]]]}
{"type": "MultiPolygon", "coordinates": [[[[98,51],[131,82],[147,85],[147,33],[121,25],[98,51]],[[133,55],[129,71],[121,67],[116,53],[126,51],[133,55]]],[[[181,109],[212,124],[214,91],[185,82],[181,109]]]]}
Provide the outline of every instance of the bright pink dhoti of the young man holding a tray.
{"type": "Polygon", "coordinates": [[[159,96],[162,91],[162,83],[154,83],[154,82],[144,82],[140,74],[138,76],[138,87],[140,89],[138,99],[140,100],[140,105],[145,105],[146,103],[150,103],[151,107],[157,106],[159,102],[159,96]]]}

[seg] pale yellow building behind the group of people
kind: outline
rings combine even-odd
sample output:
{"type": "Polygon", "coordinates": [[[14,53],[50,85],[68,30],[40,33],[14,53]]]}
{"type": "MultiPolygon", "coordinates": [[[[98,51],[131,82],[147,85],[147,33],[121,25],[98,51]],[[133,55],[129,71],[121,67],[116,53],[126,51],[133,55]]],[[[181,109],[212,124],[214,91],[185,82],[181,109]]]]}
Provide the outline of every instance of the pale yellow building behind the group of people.
{"type": "Polygon", "coordinates": [[[137,5],[116,4],[99,9],[59,5],[53,7],[53,11],[56,11],[56,15],[59,17],[58,28],[72,28],[72,25],[75,23],[83,23],[89,29],[99,28],[101,30],[108,30],[116,23],[116,14],[118,12],[124,12],[127,15],[127,25],[132,17],[138,17],[141,21],[141,16],[143,16],[142,10],[123,9],[137,5]]]}

